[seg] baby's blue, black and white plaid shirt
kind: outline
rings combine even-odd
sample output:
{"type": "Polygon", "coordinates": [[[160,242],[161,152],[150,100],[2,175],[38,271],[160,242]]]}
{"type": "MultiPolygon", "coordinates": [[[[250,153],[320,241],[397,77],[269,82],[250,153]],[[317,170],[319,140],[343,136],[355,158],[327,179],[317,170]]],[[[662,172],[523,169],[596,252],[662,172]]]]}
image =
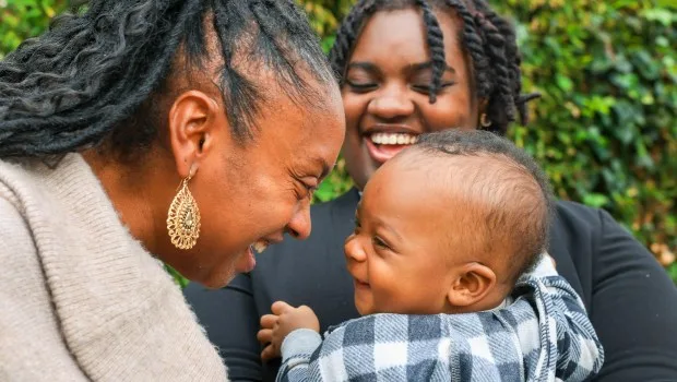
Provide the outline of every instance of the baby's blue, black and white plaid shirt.
{"type": "Polygon", "coordinates": [[[277,381],[587,380],[604,351],[583,302],[554,268],[537,273],[523,276],[501,309],[366,315],[330,329],[323,342],[294,331],[277,381]]]}

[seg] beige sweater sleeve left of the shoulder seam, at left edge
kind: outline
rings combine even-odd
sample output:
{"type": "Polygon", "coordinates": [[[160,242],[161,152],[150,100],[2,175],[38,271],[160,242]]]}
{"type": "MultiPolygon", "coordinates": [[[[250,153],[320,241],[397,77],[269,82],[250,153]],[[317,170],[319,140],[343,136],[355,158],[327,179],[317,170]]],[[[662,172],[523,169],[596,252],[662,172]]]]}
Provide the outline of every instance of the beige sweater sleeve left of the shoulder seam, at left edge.
{"type": "Polygon", "coordinates": [[[58,330],[31,231],[3,187],[0,182],[0,375],[38,381],[49,370],[52,381],[80,381],[81,372],[58,330]]]}

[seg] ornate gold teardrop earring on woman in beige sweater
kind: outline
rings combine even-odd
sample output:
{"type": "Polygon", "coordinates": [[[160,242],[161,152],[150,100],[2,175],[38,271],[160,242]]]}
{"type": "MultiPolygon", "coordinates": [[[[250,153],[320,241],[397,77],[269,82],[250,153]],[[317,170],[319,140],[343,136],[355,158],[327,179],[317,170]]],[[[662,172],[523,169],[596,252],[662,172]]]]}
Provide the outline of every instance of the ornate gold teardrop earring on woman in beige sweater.
{"type": "Polygon", "coordinates": [[[193,248],[200,237],[200,210],[188,189],[188,182],[193,175],[191,168],[188,177],[181,181],[180,190],[174,196],[167,214],[167,231],[171,243],[183,250],[193,248]]]}

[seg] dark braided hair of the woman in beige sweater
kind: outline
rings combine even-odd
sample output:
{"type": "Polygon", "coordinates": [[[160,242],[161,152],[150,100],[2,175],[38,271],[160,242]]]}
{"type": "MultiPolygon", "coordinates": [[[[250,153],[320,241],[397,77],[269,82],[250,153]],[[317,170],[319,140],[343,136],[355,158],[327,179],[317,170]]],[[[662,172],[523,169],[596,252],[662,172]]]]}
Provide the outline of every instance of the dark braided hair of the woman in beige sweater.
{"type": "Polygon", "coordinates": [[[239,65],[271,69],[294,100],[317,98],[297,62],[320,83],[333,82],[292,0],[92,0],[85,13],[58,17],[0,61],[0,158],[47,157],[102,142],[120,154],[150,145],[169,77],[204,72],[210,32],[223,56],[215,85],[241,142],[252,138],[264,86],[239,65]],[[178,55],[185,67],[174,68],[178,55]]]}

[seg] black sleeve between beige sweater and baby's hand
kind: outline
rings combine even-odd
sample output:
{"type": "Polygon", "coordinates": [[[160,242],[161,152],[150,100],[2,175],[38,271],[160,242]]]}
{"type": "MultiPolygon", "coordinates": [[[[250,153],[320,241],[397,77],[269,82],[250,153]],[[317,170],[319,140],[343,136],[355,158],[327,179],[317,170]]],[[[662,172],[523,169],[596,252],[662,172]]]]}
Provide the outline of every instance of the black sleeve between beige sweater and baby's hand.
{"type": "Polygon", "coordinates": [[[191,283],[183,293],[210,341],[218,347],[229,380],[261,381],[261,347],[257,341],[259,313],[249,275],[238,275],[218,290],[191,283]]]}

